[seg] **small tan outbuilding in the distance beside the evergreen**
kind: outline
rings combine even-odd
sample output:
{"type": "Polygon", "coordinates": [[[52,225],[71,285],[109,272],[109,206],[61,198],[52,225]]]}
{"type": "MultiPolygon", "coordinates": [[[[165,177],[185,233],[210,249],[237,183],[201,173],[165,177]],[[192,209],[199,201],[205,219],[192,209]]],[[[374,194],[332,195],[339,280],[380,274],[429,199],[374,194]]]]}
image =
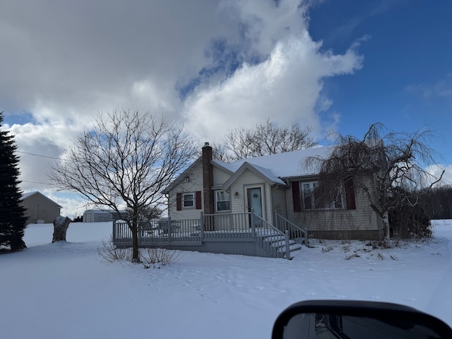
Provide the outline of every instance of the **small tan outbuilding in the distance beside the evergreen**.
{"type": "Polygon", "coordinates": [[[20,205],[25,208],[28,223],[52,223],[60,215],[61,206],[39,191],[22,194],[20,205]]]}

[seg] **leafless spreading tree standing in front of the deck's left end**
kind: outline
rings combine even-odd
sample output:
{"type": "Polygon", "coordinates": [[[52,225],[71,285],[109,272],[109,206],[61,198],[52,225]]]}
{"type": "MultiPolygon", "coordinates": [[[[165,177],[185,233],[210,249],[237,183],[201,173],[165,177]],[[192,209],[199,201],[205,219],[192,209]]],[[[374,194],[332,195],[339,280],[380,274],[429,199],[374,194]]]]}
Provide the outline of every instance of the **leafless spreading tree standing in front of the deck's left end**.
{"type": "MultiPolygon", "coordinates": [[[[130,110],[98,115],[93,129],[73,141],[50,181],[95,206],[128,210],[133,261],[139,261],[138,216],[165,203],[162,189],[193,160],[196,149],[182,126],[130,110]]],[[[124,213],[123,213],[124,214],[124,213]]]]}

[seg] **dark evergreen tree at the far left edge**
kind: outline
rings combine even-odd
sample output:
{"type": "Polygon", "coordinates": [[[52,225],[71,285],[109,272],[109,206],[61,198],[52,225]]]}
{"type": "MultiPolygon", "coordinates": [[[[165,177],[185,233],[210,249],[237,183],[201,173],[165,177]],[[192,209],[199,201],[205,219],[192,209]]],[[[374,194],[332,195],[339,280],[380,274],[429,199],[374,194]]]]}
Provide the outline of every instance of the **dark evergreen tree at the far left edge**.
{"type": "Polygon", "coordinates": [[[0,112],[0,246],[10,246],[15,251],[26,248],[22,238],[27,218],[25,208],[20,206],[17,146],[14,136],[1,130],[3,119],[0,112]]]}

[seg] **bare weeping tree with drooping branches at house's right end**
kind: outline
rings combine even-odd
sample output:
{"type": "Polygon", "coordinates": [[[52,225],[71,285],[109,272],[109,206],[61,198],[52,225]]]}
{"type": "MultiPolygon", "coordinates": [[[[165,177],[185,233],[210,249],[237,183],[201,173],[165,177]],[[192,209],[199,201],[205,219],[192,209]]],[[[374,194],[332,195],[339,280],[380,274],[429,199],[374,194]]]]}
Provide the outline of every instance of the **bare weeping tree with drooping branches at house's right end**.
{"type": "Polygon", "coordinates": [[[345,186],[349,189],[361,189],[383,221],[381,232],[388,240],[389,210],[416,206],[421,192],[425,194],[441,180],[442,174],[433,177],[425,169],[439,158],[428,145],[435,133],[427,126],[414,133],[398,133],[383,124],[372,124],[362,140],[335,132],[331,136],[335,142],[331,155],[308,160],[320,165],[321,193],[334,196],[340,182],[348,182],[345,186]]]}

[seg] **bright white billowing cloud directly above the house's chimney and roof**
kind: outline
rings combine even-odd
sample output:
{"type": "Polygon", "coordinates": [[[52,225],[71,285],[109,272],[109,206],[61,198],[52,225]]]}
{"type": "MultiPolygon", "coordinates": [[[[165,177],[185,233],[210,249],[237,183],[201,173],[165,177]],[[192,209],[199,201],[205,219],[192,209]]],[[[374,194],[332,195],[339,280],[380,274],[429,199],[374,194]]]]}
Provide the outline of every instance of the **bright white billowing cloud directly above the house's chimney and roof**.
{"type": "MultiPolygon", "coordinates": [[[[195,93],[186,102],[187,126],[198,138],[213,140],[236,126],[252,126],[270,118],[281,124],[301,121],[317,136],[321,121],[316,112],[323,78],[352,73],[362,58],[352,49],[344,55],[321,54],[321,44],[306,33],[287,37],[275,45],[261,64],[244,64],[227,81],[195,93]]],[[[323,105],[321,104],[321,105],[323,105]]]]}

